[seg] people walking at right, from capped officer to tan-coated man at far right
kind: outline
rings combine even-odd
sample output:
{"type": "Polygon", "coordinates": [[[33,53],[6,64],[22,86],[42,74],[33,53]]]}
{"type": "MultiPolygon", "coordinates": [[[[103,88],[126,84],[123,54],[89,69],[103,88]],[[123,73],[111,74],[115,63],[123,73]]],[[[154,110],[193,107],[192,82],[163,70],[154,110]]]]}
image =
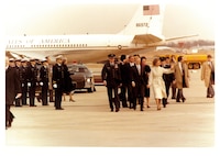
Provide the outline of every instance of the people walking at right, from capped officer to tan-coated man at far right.
{"type": "MultiPolygon", "coordinates": [[[[101,70],[101,78],[107,87],[110,111],[119,112],[121,107],[136,110],[138,104],[140,111],[151,108],[150,88],[158,111],[162,104],[164,108],[168,104],[169,88],[172,99],[176,102],[186,101],[183,89],[189,88],[190,77],[184,56],[179,56],[177,60],[174,56],[155,57],[152,66],[146,64],[146,57],[140,55],[130,55],[128,58],[121,55],[119,59],[114,54],[109,54],[108,58],[101,70]]],[[[215,96],[215,64],[211,58],[211,55],[207,56],[201,69],[207,98],[215,96]]]]}

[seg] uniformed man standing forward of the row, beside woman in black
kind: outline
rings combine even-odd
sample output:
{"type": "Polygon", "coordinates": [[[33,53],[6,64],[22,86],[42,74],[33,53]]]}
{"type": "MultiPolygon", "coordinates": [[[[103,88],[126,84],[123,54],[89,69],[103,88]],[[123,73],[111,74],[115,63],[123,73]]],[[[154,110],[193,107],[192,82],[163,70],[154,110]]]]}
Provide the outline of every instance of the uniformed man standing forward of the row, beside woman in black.
{"type": "Polygon", "coordinates": [[[62,94],[64,89],[64,68],[62,66],[63,57],[56,57],[56,64],[53,66],[53,88],[55,89],[55,102],[54,107],[56,110],[64,110],[62,108],[62,94]]]}

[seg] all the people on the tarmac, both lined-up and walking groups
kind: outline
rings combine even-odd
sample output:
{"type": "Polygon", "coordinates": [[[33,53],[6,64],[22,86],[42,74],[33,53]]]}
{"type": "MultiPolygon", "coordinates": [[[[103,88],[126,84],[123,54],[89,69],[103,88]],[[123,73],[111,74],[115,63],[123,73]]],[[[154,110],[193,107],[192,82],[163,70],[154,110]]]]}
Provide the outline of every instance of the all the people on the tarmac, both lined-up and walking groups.
{"type": "MultiPolygon", "coordinates": [[[[177,60],[174,57],[156,57],[152,66],[146,64],[146,57],[140,55],[121,55],[117,59],[114,54],[109,54],[108,58],[101,70],[101,78],[107,87],[110,111],[119,112],[120,108],[136,110],[138,104],[141,111],[151,108],[150,88],[158,111],[162,104],[164,108],[168,104],[169,88],[172,99],[176,102],[186,101],[183,88],[189,87],[189,71],[184,56],[179,56],[177,60]]],[[[211,55],[202,64],[201,80],[205,80],[207,87],[207,98],[213,98],[215,63],[211,55]]],[[[54,102],[55,110],[63,110],[62,97],[69,94],[69,101],[74,101],[74,89],[67,59],[62,56],[56,57],[54,65],[50,58],[40,62],[6,57],[6,127],[10,127],[13,122],[11,105],[36,107],[37,98],[42,105],[48,105],[50,101],[54,102]],[[41,89],[38,96],[36,88],[41,89]]]]}

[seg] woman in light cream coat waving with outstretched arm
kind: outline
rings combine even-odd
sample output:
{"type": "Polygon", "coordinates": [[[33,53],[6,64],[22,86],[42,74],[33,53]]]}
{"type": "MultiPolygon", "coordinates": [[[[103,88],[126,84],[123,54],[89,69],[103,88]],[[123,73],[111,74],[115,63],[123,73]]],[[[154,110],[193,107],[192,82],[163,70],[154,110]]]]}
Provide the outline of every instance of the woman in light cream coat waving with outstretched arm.
{"type": "Polygon", "coordinates": [[[173,67],[170,69],[165,69],[161,67],[160,58],[154,58],[147,87],[152,87],[153,89],[157,110],[161,110],[162,99],[167,98],[163,74],[170,74],[170,73],[173,73],[173,67]]]}

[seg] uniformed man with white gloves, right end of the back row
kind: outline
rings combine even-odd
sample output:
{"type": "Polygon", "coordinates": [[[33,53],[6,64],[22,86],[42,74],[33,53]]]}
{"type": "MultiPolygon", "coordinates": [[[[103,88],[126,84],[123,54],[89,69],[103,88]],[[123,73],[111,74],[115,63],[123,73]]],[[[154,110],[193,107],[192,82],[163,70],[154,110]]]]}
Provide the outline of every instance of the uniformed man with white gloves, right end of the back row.
{"type": "Polygon", "coordinates": [[[48,92],[48,63],[46,59],[42,60],[42,67],[40,69],[40,86],[42,87],[42,105],[48,105],[47,92],[48,92]]]}

